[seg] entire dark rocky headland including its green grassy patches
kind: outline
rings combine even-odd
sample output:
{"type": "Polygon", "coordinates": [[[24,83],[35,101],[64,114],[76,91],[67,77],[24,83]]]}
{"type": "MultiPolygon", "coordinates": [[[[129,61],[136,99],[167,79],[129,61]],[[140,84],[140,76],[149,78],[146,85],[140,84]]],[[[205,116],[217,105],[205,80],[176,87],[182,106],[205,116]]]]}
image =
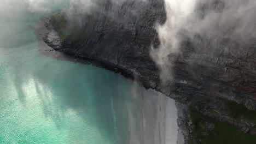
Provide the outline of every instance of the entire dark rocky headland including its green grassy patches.
{"type": "Polygon", "coordinates": [[[185,38],[175,56],[174,80],[162,86],[149,51],[160,43],[155,25],[166,20],[164,1],[98,5],[90,13],[78,14],[81,19],[72,24],[63,13],[44,17],[49,30],[45,43],[56,51],[120,69],[142,86],[175,99],[181,113],[178,124],[188,143],[217,139],[212,137],[219,133],[211,131],[226,124],[230,125],[226,131],[241,131],[241,137],[256,140],[255,43],[238,45],[230,37],[218,43],[200,35],[185,38]]]}

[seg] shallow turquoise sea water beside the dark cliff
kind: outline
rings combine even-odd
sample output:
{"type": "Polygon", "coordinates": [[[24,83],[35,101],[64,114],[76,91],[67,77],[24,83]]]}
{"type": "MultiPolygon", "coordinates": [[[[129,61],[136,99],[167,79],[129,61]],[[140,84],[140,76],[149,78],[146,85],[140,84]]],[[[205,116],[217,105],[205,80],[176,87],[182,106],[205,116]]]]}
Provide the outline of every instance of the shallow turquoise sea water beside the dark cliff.
{"type": "Polygon", "coordinates": [[[119,74],[41,55],[31,26],[48,9],[2,3],[0,143],[137,144],[156,135],[161,100],[144,98],[155,93],[119,74]]]}

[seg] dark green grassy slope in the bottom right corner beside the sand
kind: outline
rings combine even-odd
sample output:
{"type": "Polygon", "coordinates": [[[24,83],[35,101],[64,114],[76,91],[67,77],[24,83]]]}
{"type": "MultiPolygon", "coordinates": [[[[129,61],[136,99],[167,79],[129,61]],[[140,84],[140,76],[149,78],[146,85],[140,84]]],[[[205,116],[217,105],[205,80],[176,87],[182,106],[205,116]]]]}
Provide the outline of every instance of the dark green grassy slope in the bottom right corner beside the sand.
{"type": "Polygon", "coordinates": [[[193,122],[193,134],[190,143],[196,144],[252,144],[256,136],[245,134],[240,128],[216,119],[203,116],[196,110],[190,113],[193,122]],[[213,126],[214,125],[214,126],[213,126]]]}

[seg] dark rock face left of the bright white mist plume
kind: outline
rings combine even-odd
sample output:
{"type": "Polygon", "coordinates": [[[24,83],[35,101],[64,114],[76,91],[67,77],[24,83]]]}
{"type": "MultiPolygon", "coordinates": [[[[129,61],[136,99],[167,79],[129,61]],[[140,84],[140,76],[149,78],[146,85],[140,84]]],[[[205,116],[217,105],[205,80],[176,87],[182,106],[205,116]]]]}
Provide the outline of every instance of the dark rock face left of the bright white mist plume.
{"type": "MultiPolygon", "coordinates": [[[[94,33],[93,39],[69,43],[60,41],[57,33],[51,31],[45,36],[45,43],[57,51],[97,59],[135,73],[147,81],[158,77],[149,50],[152,44],[159,43],[155,25],[165,21],[164,1],[127,1],[120,5],[106,1],[98,9],[85,14],[82,20],[85,34],[94,33]]],[[[46,23],[53,30],[51,21],[46,23]]]]}

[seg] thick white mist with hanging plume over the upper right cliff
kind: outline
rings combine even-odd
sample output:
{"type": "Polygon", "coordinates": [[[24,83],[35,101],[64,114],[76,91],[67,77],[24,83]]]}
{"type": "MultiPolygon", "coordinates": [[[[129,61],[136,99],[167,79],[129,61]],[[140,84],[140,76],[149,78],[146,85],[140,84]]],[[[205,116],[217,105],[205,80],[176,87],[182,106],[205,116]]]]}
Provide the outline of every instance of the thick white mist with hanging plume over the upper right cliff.
{"type": "Polygon", "coordinates": [[[150,51],[159,67],[162,84],[173,81],[173,64],[183,54],[184,41],[193,43],[195,52],[209,56],[224,53],[245,57],[253,51],[256,1],[166,0],[165,7],[167,20],[164,25],[156,26],[160,46],[150,51]]]}

